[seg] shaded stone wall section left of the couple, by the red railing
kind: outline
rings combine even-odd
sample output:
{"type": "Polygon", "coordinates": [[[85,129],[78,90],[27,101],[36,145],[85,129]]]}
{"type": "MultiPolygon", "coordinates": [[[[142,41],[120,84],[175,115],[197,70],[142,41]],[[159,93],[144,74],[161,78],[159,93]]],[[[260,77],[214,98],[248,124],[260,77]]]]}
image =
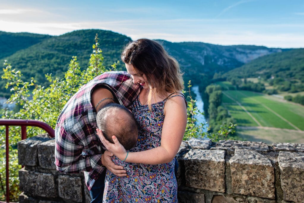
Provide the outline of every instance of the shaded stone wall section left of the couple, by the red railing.
{"type": "Polygon", "coordinates": [[[47,135],[18,143],[19,202],[61,203],[91,201],[83,174],[63,174],[56,170],[55,140],[47,135]]]}

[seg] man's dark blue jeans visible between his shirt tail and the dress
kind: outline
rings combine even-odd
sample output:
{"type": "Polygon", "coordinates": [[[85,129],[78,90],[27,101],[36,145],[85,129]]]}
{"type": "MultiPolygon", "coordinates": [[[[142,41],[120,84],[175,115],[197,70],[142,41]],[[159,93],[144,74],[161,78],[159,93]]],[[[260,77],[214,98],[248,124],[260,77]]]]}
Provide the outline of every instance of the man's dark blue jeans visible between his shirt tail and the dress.
{"type": "Polygon", "coordinates": [[[92,198],[91,203],[102,203],[103,190],[105,189],[105,172],[107,169],[103,170],[102,174],[95,181],[93,187],[90,190],[90,195],[92,198]]]}

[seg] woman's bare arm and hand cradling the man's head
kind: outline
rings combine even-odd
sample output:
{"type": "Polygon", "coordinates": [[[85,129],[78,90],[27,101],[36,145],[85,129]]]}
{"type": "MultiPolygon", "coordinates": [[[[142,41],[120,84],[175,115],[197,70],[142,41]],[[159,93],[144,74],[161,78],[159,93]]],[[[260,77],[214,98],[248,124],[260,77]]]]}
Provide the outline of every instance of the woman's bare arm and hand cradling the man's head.
{"type": "MultiPolygon", "coordinates": [[[[187,109],[184,98],[170,98],[166,102],[164,110],[165,118],[161,134],[161,146],[141,152],[130,152],[125,160],[126,162],[160,164],[173,160],[181,145],[186,129],[187,109]]],[[[114,141],[114,144],[112,144],[103,138],[99,130],[97,132],[105,147],[120,160],[124,160],[127,152],[118,139],[112,136],[114,141]]]]}

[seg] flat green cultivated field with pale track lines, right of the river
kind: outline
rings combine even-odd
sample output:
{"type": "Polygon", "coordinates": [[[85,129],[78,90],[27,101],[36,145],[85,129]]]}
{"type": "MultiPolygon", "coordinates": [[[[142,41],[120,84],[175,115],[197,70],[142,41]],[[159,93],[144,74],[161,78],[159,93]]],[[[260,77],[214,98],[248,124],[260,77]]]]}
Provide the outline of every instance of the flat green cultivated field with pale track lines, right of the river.
{"type": "MultiPolygon", "coordinates": [[[[221,84],[229,88],[229,84],[221,84]]],[[[250,141],[304,143],[304,106],[251,91],[223,91],[238,136],[250,141]]]]}

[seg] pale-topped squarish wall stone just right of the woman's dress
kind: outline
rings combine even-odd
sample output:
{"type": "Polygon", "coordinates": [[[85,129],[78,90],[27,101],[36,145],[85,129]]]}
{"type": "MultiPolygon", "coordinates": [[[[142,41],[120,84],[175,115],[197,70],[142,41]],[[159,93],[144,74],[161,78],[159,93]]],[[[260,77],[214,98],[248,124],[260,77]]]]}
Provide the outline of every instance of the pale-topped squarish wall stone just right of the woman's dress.
{"type": "Polygon", "coordinates": [[[186,186],[225,192],[225,151],[190,150],[185,155],[186,186]]]}

